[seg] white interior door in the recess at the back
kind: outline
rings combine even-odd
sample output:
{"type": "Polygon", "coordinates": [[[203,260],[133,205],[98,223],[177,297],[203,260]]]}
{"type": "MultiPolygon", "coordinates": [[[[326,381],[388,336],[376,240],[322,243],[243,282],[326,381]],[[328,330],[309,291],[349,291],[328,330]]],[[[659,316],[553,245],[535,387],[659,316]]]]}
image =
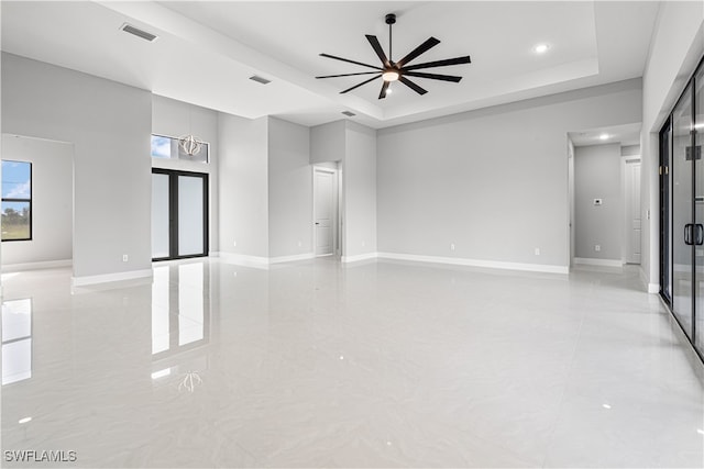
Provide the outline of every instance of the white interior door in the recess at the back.
{"type": "Polygon", "coordinates": [[[314,172],[314,235],[316,256],[334,253],[336,192],[333,171],[316,169],[314,172]]]}

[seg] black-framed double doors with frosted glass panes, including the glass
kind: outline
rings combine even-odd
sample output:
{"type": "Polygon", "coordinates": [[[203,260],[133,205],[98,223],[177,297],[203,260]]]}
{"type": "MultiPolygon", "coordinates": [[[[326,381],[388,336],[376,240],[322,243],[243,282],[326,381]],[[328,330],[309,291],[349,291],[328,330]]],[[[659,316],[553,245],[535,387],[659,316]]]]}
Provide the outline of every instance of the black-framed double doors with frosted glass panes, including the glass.
{"type": "Polygon", "coordinates": [[[208,255],[208,175],[152,169],[152,258],[208,255]]]}

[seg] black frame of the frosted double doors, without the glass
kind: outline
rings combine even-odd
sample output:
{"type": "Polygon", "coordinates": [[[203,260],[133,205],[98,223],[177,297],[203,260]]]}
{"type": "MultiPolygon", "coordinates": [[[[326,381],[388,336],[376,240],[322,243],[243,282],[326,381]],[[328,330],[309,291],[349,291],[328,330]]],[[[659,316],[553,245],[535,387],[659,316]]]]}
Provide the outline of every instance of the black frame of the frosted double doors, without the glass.
{"type": "Polygon", "coordinates": [[[184,171],[178,169],[152,168],[152,175],[168,176],[168,250],[167,257],[154,257],[152,261],[190,259],[194,257],[207,257],[209,253],[209,183],[207,172],[184,171]],[[202,179],[202,253],[179,255],[178,254],[178,177],[195,177],[202,179]]]}

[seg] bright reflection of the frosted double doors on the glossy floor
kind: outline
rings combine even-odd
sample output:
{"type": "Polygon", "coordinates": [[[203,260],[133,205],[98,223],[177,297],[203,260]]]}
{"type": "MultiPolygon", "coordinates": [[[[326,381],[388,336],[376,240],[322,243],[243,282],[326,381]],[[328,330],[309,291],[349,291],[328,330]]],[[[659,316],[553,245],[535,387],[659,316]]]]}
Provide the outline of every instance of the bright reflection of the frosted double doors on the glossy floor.
{"type": "Polygon", "coordinates": [[[152,355],[179,351],[206,340],[209,314],[204,302],[202,264],[154,267],[152,355]],[[177,295],[170,289],[172,268],[177,273],[177,295]]]}

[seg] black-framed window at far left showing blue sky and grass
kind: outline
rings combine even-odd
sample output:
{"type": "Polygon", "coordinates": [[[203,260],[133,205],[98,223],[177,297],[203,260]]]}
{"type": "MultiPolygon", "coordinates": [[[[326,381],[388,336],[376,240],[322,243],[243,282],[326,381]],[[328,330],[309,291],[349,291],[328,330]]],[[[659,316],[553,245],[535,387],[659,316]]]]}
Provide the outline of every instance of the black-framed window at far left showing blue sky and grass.
{"type": "Polygon", "coordinates": [[[32,238],[32,164],[2,160],[2,241],[32,238]]]}

